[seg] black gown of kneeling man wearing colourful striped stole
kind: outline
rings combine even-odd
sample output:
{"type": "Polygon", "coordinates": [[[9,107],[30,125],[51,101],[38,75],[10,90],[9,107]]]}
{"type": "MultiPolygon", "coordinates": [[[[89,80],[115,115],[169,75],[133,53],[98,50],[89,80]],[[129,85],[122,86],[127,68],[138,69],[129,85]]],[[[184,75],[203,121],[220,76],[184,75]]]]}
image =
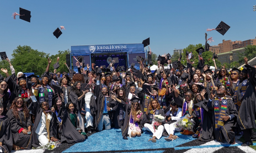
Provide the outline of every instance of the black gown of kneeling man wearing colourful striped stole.
{"type": "MultiPolygon", "coordinates": [[[[213,133],[215,136],[215,139],[217,141],[223,142],[224,139],[229,143],[230,141],[234,140],[235,133],[231,131],[232,127],[234,126],[236,120],[237,120],[237,109],[235,107],[235,104],[232,100],[226,99],[227,100],[227,111],[226,111],[226,116],[232,114],[235,117],[232,118],[232,120],[228,119],[227,121],[224,121],[224,126],[220,131],[215,130],[215,115],[214,115],[214,99],[212,99],[212,106],[208,108],[208,111],[212,112],[212,122],[213,122],[213,133]],[[222,133],[222,134],[221,134],[222,133]],[[224,136],[224,138],[222,137],[224,136]]],[[[210,102],[210,100],[209,100],[210,102]]],[[[207,110],[206,110],[207,111],[207,110]]],[[[221,111],[221,102],[219,102],[219,111],[221,111]]]]}

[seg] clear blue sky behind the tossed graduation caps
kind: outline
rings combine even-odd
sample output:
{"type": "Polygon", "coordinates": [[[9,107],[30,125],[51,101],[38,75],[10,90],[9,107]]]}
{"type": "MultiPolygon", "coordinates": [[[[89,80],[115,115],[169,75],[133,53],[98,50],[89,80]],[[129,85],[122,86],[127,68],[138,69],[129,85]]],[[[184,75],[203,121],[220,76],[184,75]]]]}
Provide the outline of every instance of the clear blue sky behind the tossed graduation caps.
{"type": "Polygon", "coordinates": [[[141,43],[150,37],[156,54],[170,53],[189,44],[204,44],[207,28],[223,20],[230,25],[222,36],[209,31],[217,45],[225,40],[256,36],[255,0],[246,1],[0,1],[0,52],[10,58],[18,45],[51,55],[73,45],[141,43]],[[31,23],[12,18],[19,7],[31,11],[31,23]],[[53,31],[65,26],[56,39],[53,31]]]}

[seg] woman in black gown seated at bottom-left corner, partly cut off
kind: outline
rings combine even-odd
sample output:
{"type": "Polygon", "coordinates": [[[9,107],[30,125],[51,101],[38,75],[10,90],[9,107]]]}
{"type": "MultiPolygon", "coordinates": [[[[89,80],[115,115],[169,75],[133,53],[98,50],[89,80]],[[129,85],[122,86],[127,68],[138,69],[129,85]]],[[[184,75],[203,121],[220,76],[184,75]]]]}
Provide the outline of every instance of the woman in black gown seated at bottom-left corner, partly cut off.
{"type": "Polygon", "coordinates": [[[4,106],[0,102],[0,150],[5,153],[10,153],[12,150],[10,119],[3,115],[3,111],[4,106]]]}

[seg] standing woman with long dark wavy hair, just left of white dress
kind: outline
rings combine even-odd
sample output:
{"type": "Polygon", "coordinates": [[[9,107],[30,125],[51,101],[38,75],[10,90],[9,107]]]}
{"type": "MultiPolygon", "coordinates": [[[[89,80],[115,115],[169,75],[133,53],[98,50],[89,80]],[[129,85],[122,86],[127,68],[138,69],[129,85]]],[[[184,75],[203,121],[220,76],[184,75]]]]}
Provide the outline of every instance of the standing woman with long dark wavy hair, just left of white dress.
{"type": "Polygon", "coordinates": [[[80,92],[80,88],[81,88],[81,82],[80,81],[76,81],[73,85],[73,87],[71,88],[70,94],[69,94],[69,99],[71,100],[71,102],[74,103],[76,109],[77,109],[77,117],[79,118],[79,126],[82,128],[82,130],[84,131],[84,115],[81,115],[81,110],[82,108],[84,109],[84,105],[85,105],[85,101],[84,101],[84,95],[89,92],[89,90],[81,90],[82,92],[80,92]]]}

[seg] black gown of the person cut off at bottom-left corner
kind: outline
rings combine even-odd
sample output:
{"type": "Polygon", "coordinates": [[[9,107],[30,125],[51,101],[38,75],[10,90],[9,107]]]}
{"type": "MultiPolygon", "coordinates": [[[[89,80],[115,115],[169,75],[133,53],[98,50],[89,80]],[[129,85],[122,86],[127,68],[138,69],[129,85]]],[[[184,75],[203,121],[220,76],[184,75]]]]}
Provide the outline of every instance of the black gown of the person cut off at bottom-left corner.
{"type": "Polygon", "coordinates": [[[0,118],[0,142],[2,147],[7,150],[8,153],[12,151],[12,133],[10,128],[10,119],[6,116],[0,118]]]}

